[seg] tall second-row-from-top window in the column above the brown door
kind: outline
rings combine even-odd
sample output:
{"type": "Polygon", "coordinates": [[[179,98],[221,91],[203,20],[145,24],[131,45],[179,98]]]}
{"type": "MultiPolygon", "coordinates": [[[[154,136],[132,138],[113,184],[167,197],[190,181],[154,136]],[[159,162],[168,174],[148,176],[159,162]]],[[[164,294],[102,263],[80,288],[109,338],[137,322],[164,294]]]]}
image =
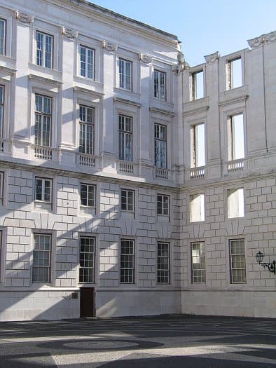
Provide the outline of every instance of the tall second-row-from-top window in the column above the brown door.
{"type": "Polygon", "coordinates": [[[81,154],[94,154],[94,109],[80,105],[80,146],[81,154]]]}

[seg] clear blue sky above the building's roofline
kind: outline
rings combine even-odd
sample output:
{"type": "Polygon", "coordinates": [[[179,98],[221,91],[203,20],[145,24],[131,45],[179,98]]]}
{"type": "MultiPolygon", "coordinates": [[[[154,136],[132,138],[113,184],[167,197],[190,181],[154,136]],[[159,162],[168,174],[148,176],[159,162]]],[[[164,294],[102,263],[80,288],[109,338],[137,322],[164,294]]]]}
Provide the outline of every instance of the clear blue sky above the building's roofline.
{"type": "Polygon", "coordinates": [[[276,30],[276,0],[93,0],[116,13],[177,34],[191,66],[204,55],[247,48],[247,39],[276,30]]]}

